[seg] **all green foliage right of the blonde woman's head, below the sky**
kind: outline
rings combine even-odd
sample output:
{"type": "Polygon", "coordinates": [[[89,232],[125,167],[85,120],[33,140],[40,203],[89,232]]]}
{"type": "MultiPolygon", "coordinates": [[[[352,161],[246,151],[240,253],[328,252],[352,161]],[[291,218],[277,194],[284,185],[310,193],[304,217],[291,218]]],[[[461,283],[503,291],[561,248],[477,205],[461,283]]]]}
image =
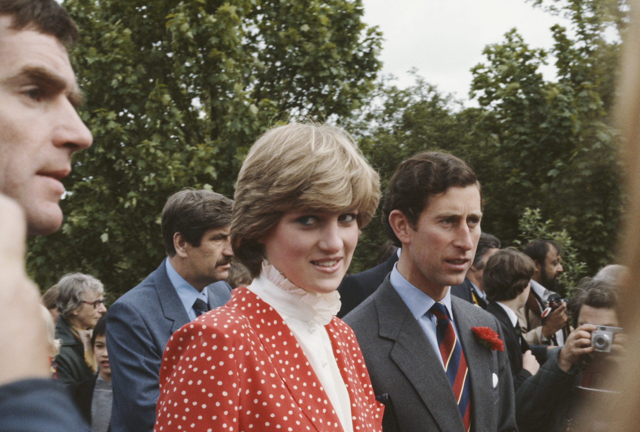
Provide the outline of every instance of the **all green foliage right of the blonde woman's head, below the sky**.
{"type": "MultiPolygon", "coordinates": [[[[488,45],[486,61],[472,68],[470,95],[479,108],[461,109],[422,79],[405,90],[381,83],[375,108],[358,114],[353,131],[383,181],[420,150],[461,157],[483,184],[483,230],[511,243],[525,209],[540,209],[540,217],[566,229],[580,260],[595,271],[612,259],[620,218],[610,115],[620,39],[608,35],[624,29],[624,2],[536,3],[564,13],[573,28],[551,29],[550,52],[529,46],[515,29],[488,45]],[[557,77],[548,81],[540,67],[553,59],[557,77]]],[[[374,264],[374,245],[383,239],[378,225],[367,228],[353,271],[374,264]]]]}

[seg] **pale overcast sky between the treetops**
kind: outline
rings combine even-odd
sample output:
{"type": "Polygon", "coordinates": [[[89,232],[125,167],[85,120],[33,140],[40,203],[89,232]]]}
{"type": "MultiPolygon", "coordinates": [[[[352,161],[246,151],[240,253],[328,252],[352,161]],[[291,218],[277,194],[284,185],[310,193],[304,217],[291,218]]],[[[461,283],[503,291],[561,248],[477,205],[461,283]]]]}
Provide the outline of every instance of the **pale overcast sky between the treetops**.
{"type": "MultiPolygon", "coordinates": [[[[383,74],[394,74],[400,86],[413,83],[406,73],[419,74],[445,93],[468,99],[470,68],[484,61],[487,44],[504,40],[517,28],[532,47],[550,49],[549,28],[569,28],[563,17],[534,8],[525,0],[362,0],[364,21],[380,27],[385,42],[380,60],[383,74]]],[[[554,67],[543,70],[547,79],[554,67]]]]}

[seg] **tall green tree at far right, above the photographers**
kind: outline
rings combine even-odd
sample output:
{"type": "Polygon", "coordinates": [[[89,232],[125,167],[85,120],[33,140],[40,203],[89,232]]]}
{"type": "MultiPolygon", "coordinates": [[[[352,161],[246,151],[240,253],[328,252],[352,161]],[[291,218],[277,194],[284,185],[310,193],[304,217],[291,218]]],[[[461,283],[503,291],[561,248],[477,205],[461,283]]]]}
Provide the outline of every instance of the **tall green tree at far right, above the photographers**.
{"type": "Polygon", "coordinates": [[[488,61],[472,70],[471,87],[484,108],[476,130],[493,149],[493,163],[481,166],[479,175],[492,203],[500,202],[487,207],[486,229],[513,239],[518,214],[538,207],[566,227],[591,270],[611,259],[620,218],[610,115],[620,42],[605,35],[618,28],[603,12],[605,3],[611,5],[553,2],[572,20],[575,36],[554,26],[556,44],[548,53],[510,31],[505,42],[486,47],[488,61]],[[545,81],[538,71],[550,54],[556,81],[545,81]]]}

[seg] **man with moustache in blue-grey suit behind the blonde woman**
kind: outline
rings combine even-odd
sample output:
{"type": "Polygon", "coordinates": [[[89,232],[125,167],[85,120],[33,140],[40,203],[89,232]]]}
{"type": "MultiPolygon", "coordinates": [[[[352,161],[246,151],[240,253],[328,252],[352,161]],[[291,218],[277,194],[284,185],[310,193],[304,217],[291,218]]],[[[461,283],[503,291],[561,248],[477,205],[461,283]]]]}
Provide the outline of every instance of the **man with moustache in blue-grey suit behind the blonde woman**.
{"type": "Polygon", "coordinates": [[[112,432],[151,432],[162,354],[173,332],[227,303],[232,200],[205,190],[172,195],[162,212],[167,258],[107,314],[112,432]],[[217,282],[217,283],[216,283],[217,282]]]}

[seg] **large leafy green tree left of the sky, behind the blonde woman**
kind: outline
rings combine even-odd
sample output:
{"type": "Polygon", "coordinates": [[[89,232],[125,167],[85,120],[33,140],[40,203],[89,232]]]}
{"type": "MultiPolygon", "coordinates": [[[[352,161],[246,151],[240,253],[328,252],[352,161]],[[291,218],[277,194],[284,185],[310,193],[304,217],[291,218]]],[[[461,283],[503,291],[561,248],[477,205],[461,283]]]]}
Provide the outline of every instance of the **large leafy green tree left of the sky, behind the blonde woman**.
{"type": "Polygon", "coordinates": [[[381,35],[360,0],[67,0],[94,145],[74,159],[56,234],[31,240],[42,287],[68,271],[122,294],[164,256],[159,215],[184,187],[233,195],[269,125],[348,116],[372,89],[381,35]]]}

